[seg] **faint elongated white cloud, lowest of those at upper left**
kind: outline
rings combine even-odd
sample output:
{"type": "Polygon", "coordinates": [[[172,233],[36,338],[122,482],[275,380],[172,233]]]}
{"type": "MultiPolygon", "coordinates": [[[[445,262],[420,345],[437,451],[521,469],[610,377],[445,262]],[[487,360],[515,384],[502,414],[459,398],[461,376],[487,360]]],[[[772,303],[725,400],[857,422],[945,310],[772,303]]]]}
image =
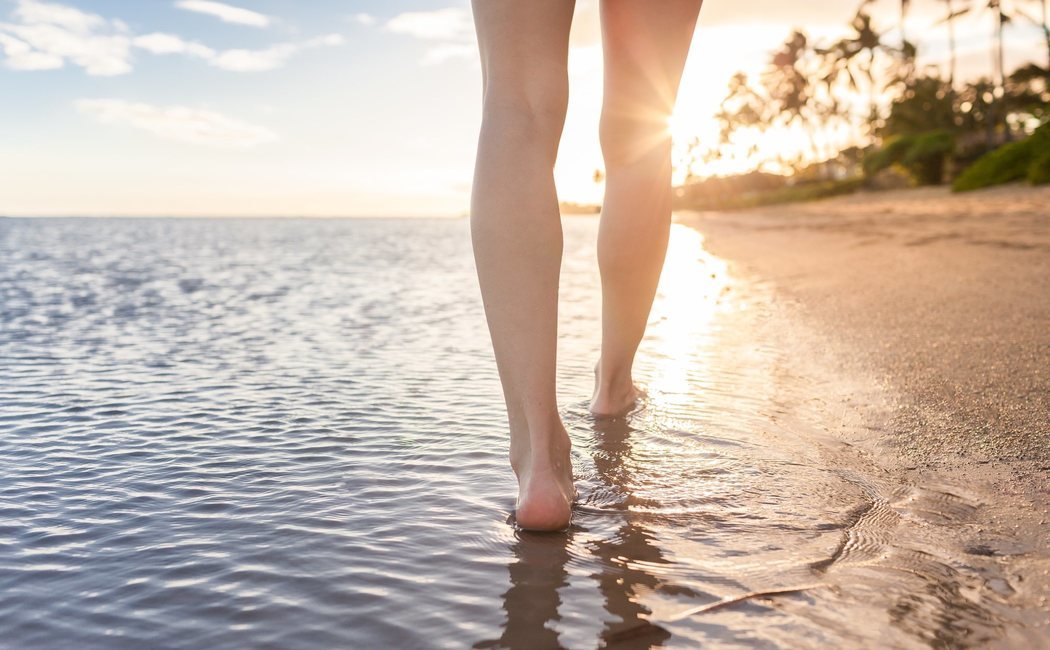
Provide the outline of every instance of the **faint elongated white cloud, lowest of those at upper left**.
{"type": "Polygon", "coordinates": [[[277,140],[265,127],[185,106],[154,106],[116,99],[78,100],[75,106],[104,124],[124,124],[165,140],[195,145],[249,148],[277,140]]]}

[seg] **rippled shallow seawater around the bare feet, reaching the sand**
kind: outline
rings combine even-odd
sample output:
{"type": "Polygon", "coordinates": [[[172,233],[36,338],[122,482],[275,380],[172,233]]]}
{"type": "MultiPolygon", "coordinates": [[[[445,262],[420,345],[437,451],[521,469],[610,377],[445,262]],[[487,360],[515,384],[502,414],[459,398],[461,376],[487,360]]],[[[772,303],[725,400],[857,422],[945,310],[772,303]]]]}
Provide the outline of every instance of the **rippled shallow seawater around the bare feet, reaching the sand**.
{"type": "Polygon", "coordinates": [[[586,414],[596,222],[566,221],[581,503],[517,531],[464,221],[0,219],[0,645],[982,646],[979,507],[828,429],[771,291],[675,226],[638,359],[586,414]],[[721,599],[758,594],[710,611],[721,599]]]}

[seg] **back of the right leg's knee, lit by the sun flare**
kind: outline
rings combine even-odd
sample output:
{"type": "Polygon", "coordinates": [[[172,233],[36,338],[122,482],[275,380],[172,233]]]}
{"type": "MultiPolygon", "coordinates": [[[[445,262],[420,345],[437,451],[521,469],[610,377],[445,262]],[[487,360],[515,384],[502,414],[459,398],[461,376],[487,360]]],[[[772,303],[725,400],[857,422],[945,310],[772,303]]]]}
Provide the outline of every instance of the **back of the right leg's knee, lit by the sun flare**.
{"type": "Polygon", "coordinates": [[[604,109],[598,135],[606,168],[670,160],[668,117],[656,107],[604,109]]]}

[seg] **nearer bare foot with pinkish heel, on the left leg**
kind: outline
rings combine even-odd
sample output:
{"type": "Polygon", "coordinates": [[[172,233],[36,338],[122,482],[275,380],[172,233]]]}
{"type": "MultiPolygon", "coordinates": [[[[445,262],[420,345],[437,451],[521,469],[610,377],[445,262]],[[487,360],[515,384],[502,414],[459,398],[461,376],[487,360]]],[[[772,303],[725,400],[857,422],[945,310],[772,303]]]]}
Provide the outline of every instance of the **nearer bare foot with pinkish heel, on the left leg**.
{"type": "Polygon", "coordinates": [[[572,444],[563,428],[543,447],[513,449],[510,464],[518,476],[514,519],[527,530],[563,530],[572,517],[576,490],[572,485],[572,444]]]}

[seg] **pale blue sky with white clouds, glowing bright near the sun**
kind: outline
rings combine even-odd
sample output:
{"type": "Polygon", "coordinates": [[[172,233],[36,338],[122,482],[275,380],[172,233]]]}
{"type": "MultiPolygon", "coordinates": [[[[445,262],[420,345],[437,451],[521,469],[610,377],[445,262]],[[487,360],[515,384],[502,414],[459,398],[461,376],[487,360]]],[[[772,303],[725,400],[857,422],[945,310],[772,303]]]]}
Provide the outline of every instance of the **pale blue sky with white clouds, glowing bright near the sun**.
{"type": "MultiPolygon", "coordinates": [[[[944,3],[912,5],[920,62],[942,63],[944,3]]],[[[889,38],[897,6],[872,7],[889,38]]],[[[675,137],[715,138],[733,72],[760,70],[794,26],[844,34],[855,11],[707,0],[675,137]]],[[[990,15],[958,26],[962,76],[990,74],[990,15]]],[[[1010,27],[1008,66],[1044,61],[1040,37],[1010,27]]],[[[596,202],[597,0],[576,2],[570,45],[555,179],[563,200],[596,202]]],[[[460,215],[480,120],[465,1],[0,0],[0,214],[460,215]]]]}

